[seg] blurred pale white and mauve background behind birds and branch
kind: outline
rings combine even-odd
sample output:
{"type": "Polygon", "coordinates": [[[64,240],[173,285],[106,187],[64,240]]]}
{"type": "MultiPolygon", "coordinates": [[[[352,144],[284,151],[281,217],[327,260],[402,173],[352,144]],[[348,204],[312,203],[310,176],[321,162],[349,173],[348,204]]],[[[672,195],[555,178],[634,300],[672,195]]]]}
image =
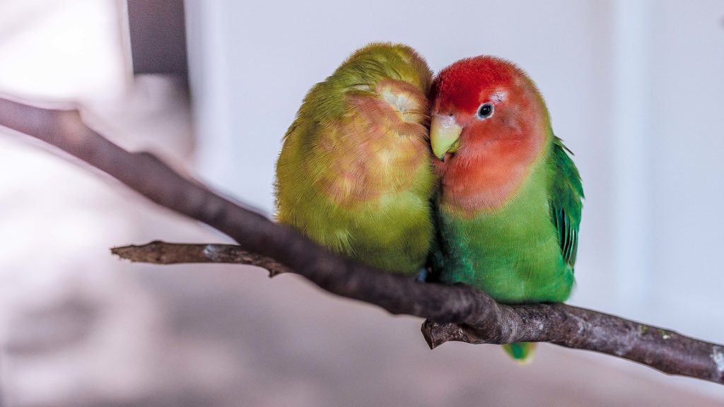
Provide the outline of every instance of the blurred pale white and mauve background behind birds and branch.
{"type": "MultiPolygon", "coordinates": [[[[494,54],[546,97],[586,190],[571,303],[724,343],[724,3],[0,0],[0,94],[270,215],[301,99],[354,49],[494,54]]],[[[724,387],[584,351],[429,351],[420,319],[252,267],[111,246],[227,242],[0,129],[0,406],[721,406],[724,387]]]]}

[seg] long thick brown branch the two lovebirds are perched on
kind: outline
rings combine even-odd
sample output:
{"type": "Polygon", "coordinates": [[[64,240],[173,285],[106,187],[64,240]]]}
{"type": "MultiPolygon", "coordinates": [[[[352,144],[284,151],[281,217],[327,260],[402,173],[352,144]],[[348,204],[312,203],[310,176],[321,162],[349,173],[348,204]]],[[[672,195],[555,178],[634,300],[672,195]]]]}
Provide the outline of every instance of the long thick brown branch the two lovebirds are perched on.
{"type": "Polygon", "coordinates": [[[508,306],[466,285],[437,285],[379,272],[316,246],[295,230],[181,177],[147,153],[130,153],[83,125],[80,113],[0,98],[0,125],[43,140],[101,169],[151,201],[220,230],[243,251],[278,261],[324,290],[421,316],[431,347],[550,342],[647,364],[668,374],[724,383],[724,348],[670,330],[565,304],[508,306]]]}

